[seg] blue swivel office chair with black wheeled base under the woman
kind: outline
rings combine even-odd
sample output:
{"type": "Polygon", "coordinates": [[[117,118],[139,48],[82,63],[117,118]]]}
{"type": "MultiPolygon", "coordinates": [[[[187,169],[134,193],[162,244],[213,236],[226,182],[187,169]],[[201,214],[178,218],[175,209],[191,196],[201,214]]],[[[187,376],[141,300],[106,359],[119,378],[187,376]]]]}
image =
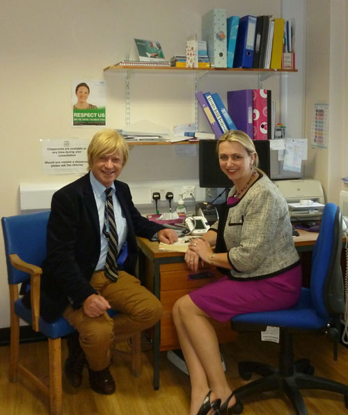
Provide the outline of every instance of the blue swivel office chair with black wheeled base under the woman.
{"type": "Polygon", "coordinates": [[[308,359],[294,361],[292,334],[313,332],[329,334],[337,345],[340,339],[340,315],[345,311],[345,299],[340,258],[342,252],[342,216],[333,203],[325,205],[319,236],[315,242],[310,288],[302,288],[297,304],[287,310],[249,313],[231,319],[232,329],[237,331],[264,331],[267,326],[280,329],[279,367],[245,361],[239,363],[239,375],[250,379],[251,373],[262,378],[235,390],[237,407],[241,413],[241,400],[256,393],[282,391],[290,399],[296,414],[307,414],[300,389],[320,389],[342,393],[348,408],[348,386],[324,377],[313,375],[314,368],[308,359]]]}

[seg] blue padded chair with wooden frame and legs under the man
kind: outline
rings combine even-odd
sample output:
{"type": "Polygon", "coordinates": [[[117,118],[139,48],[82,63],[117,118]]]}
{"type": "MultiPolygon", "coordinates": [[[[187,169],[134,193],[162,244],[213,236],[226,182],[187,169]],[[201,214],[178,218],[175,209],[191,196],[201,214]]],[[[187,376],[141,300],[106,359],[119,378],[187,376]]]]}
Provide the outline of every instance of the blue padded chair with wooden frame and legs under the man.
{"type": "MultiPolygon", "coordinates": [[[[61,338],[74,331],[67,320],[59,317],[47,323],[40,317],[40,276],[39,265],[46,256],[46,233],[49,212],[38,212],[13,217],[3,217],[3,239],[5,242],[8,284],[10,288],[10,382],[17,382],[20,373],[29,378],[49,396],[51,415],[62,413],[62,371],[61,338]],[[19,284],[31,279],[31,309],[26,308],[19,298],[19,284]],[[19,363],[19,319],[31,324],[48,340],[49,386],[19,363]]],[[[109,313],[111,317],[116,311],[109,313]]],[[[141,334],[132,337],[132,373],[138,377],[141,372],[141,334]]]]}

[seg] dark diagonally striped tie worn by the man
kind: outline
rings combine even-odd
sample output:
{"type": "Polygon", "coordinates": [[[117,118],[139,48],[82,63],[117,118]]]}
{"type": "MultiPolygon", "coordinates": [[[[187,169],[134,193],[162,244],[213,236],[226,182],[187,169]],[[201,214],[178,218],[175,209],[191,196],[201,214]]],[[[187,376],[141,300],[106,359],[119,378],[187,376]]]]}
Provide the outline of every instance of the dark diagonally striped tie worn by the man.
{"type": "Polygon", "coordinates": [[[105,261],[105,275],[111,281],[115,282],[118,279],[118,234],[116,228],[115,214],[113,213],[113,202],[112,202],[112,188],[108,187],[105,190],[106,202],[104,210],[104,226],[103,233],[109,242],[109,249],[106,255],[105,261]],[[106,224],[109,219],[109,232],[106,231],[106,224]]]}

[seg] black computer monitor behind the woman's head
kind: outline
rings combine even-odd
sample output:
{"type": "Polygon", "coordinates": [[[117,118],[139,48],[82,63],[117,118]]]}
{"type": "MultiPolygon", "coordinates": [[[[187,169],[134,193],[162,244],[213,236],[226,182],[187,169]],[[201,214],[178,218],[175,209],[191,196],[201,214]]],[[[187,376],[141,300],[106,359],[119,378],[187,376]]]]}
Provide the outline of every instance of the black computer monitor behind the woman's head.
{"type": "MultiPolygon", "coordinates": [[[[216,153],[217,140],[201,140],[199,142],[199,185],[200,187],[232,187],[231,180],[220,169],[216,153]]],[[[269,141],[255,140],[256,152],[259,155],[259,168],[268,176],[271,174],[269,141]]]]}

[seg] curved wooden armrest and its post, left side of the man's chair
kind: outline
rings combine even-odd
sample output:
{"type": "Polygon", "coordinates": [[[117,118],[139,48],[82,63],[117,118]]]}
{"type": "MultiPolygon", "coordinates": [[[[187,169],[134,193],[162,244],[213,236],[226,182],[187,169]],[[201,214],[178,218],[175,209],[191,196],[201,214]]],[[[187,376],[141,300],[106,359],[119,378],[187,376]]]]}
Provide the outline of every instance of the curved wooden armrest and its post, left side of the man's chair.
{"type": "Polygon", "coordinates": [[[30,274],[30,292],[31,292],[31,318],[32,327],[35,331],[39,331],[40,317],[40,277],[42,269],[37,265],[26,263],[17,256],[17,253],[10,254],[10,263],[19,269],[19,271],[30,274]]]}

